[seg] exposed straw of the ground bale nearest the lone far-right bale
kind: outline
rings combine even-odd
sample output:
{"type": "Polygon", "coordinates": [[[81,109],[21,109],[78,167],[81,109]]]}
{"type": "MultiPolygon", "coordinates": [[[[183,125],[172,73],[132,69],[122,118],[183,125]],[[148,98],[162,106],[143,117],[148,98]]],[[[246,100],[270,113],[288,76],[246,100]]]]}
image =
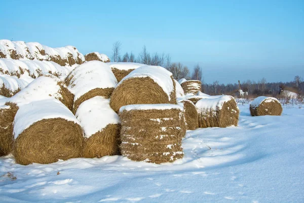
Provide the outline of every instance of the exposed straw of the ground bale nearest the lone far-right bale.
{"type": "Polygon", "coordinates": [[[238,125],[240,111],[233,97],[220,106],[216,105],[216,108],[200,109],[199,103],[197,103],[196,107],[198,108],[199,127],[228,127],[238,125]]]}

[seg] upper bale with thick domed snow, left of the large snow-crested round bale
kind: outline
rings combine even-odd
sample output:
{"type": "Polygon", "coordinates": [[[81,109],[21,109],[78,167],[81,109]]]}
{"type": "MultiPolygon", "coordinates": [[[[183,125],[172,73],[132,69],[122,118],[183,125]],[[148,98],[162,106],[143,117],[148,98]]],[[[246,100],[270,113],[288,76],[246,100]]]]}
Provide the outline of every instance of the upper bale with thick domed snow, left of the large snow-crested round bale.
{"type": "Polygon", "coordinates": [[[76,67],[66,78],[68,89],[75,95],[73,113],[85,100],[94,96],[109,98],[117,80],[109,65],[101,61],[88,61],[76,67]]]}

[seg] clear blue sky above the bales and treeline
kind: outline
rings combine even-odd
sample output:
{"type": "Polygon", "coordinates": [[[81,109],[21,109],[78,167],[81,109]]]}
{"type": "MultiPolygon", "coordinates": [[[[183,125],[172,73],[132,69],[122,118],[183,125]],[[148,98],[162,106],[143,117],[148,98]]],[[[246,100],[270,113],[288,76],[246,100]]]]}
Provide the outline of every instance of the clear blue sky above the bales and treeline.
{"type": "Polygon", "coordinates": [[[73,45],[83,54],[170,53],[207,83],[304,78],[304,0],[0,0],[0,39],[73,45]]]}

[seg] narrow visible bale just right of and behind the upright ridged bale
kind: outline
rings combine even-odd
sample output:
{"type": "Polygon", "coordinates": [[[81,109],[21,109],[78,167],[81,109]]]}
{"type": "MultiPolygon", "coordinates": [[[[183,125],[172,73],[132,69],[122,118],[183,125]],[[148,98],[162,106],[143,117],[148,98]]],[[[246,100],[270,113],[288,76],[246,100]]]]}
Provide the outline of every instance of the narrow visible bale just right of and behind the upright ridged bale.
{"type": "Polygon", "coordinates": [[[183,104],[184,116],[187,130],[195,130],[199,127],[198,111],[195,104],[188,99],[178,99],[177,102],[183,104]]]}

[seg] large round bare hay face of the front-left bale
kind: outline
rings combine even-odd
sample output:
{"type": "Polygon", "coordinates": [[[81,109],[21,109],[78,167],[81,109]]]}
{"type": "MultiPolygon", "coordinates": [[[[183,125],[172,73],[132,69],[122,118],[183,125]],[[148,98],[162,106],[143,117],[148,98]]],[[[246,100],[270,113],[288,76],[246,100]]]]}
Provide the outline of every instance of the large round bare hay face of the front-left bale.
{"type": "Polygon", "coordinates": [[[81,157],[83,141],[80,125],[62,118],[43,119],[19,134],[13,153],[19,164],[53,163],[81,157]]]}

